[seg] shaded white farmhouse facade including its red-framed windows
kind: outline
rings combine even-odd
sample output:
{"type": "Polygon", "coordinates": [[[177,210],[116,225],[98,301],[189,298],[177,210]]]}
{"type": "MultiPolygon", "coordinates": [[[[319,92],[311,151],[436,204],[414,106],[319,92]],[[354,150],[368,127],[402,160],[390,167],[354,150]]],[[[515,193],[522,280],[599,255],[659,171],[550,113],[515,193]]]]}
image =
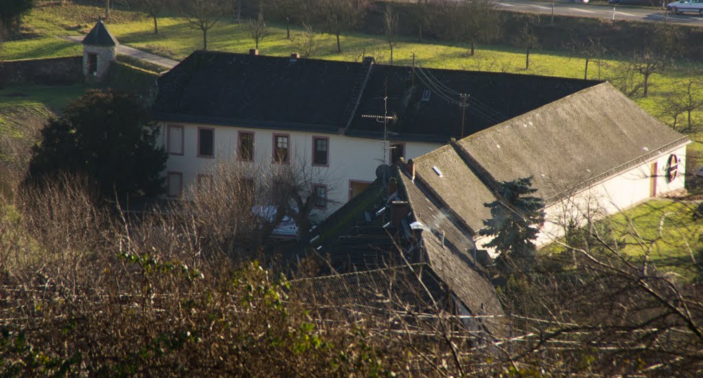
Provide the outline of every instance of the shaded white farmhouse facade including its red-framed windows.
{"type": "Polygon", "coordinates": [[[314,133],[239,126],[162,123],[160,142],[168,153],[169,197],[197,189],[209,167],[218,160],[252,164],[306,164],[325,182],[314,183],[326,197],[314,214],[323,218],[361,193],[376,179],[376,168],[396,157],[417,157],[441,143],[356,138],[338,133],[314,133]],[[280,155],[280,157],[279,157],[280,155]]]}

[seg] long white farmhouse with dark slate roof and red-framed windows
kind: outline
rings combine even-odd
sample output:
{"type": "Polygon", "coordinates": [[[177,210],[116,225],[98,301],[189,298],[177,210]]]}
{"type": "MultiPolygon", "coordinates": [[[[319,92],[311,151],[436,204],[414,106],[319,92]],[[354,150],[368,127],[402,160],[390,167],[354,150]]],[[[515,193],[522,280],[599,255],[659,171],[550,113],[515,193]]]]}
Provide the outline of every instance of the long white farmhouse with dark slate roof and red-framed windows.
{"type": "Polygon", "coordinates": [[[598,82],[531,75],[196,51],[160,77],[153,115],[168,194],[215,159],[307,164],[318,216],[377,178],[381,164],[440,148],[598,82]],[[387,122],[382,122],[383,117],[387,122]],[[384,143],[385,140],[385,143],[384,143]]]}

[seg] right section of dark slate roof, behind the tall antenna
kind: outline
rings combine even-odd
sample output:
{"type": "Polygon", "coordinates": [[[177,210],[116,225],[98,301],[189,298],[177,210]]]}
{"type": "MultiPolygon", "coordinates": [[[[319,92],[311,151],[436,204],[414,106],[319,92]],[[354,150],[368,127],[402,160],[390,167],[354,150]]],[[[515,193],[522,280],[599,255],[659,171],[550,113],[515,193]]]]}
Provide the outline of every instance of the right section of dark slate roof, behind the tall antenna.
{"type": "Polygon", "coordinates": [[[362,115],[383,112],[388,93],[388,112],[398,121],[388,130],[392,138],[438,141],[461,137],[462,112],[459,93],[470,95],[464,116],[464,135],[484,130],[524,112],[598,84],[592,80],[565,79],[501,72],[473,72],[434,68],[374,65],[361,104],[347,133],[382,138],[382,126],[362,115]],[[414,83],[414,84],[413,84],[414,83]],[[430,98],[423,101],[423,93],[430,98]]]}

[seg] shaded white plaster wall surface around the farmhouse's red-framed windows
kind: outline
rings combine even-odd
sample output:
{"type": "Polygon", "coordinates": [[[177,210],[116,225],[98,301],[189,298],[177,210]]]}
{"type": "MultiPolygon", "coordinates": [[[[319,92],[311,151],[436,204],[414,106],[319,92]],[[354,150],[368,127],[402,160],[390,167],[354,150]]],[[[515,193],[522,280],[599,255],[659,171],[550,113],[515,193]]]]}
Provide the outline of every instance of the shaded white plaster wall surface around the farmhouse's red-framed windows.
{"type": "MultiPolygon", "coordinates": [[[[176,123],[172,123],[176,124],[176,123]]],[[[310,133],[304,131],[287,131],[274,129],[249,129],[238,126],[209,126],[183,124],[183,155],[169,155],[166,171],[181,172],[183,185],[196,185],[198,174],[207,172],[208,164],[213,159],[198,157],[198,126],[214,129],[215,159],[234,159],[238,149],[238,131],[254,133],[254,159],[257,162],[271,162],[273,159],[273,134],[290,136],[290,159],[297,159],[304,164],[311,164],[312,138],[323,136],[329,138],[329,167],[320,168],[320,176],[328,178],[327,183],[330,204],[327,209],[317,211],[320,217],[327,216],[349,200],[349,181],[373,181],[375,169],[383,159],[382,141],[369,138],[352,138],[340,134],[310,133]]],[[[162,124],[161,143],[166,145],[167,128],[162,124]]],[[[389,143],[394,141],[389,140],[389,143]]],[[[406,142],[405,157],[411,159],[424,155],[441,146],[440,143],[406,142]]],[[[386,154],[386,162],[390,152],[386,154]]]]}

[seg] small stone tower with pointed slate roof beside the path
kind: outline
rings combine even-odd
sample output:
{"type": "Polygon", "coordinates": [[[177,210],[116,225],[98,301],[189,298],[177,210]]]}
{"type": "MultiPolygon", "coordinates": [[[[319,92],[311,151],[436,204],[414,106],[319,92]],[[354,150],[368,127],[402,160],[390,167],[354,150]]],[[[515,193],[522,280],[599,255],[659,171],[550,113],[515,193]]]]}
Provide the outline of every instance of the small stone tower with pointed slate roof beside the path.
{"type": "Polygon", "coordinates": [[[83,75],[86,82],[100,82],[110,72],[110,65],[117,56],[117,41],[105,27],[103,20],[93,27],[83,39],[83,75]]]}

